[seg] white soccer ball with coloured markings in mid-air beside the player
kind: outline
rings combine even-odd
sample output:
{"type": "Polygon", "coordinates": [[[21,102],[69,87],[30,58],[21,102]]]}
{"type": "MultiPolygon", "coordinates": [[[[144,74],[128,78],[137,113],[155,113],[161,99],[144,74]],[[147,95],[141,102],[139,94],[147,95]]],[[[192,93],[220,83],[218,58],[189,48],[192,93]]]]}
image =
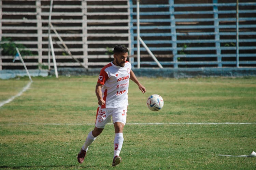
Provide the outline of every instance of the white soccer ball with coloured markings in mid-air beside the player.
{"type": "Polygon", "coordinates": [[[163,98],[158,94],[152,94],[147,99],[147,107],[152,111],[158,111],[163,107],[163,98]]]}

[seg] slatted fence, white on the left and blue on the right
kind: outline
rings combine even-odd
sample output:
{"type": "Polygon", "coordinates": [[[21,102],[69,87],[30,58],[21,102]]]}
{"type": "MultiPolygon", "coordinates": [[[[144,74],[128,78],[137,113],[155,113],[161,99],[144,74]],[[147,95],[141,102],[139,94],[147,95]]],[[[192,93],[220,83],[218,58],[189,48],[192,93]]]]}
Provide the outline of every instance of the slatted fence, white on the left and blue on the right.
{"type": "MultiPolygon", "coordinates": [[[[256,2],[238,4],[234,0],[141,0],[140,37],[166,68],[256,67],[256,2]]],[[[11,37],[31,50],[33,56],[23,56],[28,68],[48,65],[49,9],[50,0],[0,1],[0,40],[11,37]]],[[[137,0],[53,1],[51,23],[72,57],[86,68],[111,61],[108,49],[115,44],[126,45],[130,62],[138,67],[137,0]]],[[[57,66],[80,67],[63,50],[53,29],[51,36],[57,66]]],[[[23,68],[12,59],[1,56],[0,69],[23,68]]],[[[158,67],[142,45],[140,66],[158,67]]]]}

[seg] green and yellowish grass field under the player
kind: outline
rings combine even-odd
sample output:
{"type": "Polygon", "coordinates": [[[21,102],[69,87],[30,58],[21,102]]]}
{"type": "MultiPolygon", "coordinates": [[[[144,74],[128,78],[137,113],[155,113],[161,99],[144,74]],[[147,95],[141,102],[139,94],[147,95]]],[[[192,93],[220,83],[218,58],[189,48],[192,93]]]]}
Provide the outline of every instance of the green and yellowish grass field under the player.
{"type": "MultiPolygon", "coordinates": [[[[0,107],[0,168],[111,169],[112,124],[89,147],[83,164],[76,159],[94,128],[98,78],[32,79],[27,91],[0,107]]],[[[113,169],[256,169],[256,158],[218,156],[256,151],[255,77],[139,80],[147,92],[130,82],[123,161],[113,169]],[[155,93],[165,101],[157,112],[146,106],[155,93]]],[[[28,82],[0,80],[0,103],[28,82]]]]}

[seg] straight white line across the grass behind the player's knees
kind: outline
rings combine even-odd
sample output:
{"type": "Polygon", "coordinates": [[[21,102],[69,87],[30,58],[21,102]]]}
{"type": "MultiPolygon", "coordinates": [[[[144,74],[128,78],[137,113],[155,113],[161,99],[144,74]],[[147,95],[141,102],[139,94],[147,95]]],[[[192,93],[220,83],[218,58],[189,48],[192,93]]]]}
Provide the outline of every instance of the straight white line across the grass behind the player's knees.
{"type": "MultiPolygon", "coordinates": [[[[126,125],[249,125],[256,124],[256,122],[251,123],[232,123],[232,122],[224,122],[224,123],[126,123],[126,125]]],[[[21,126],[21,125],[95,125],[94,123],[10,123],[10,124],[0,124],[0,126],[21,126]]],[[[108,123],[107,125],[113,125],[112,123],[108,123]]]]}

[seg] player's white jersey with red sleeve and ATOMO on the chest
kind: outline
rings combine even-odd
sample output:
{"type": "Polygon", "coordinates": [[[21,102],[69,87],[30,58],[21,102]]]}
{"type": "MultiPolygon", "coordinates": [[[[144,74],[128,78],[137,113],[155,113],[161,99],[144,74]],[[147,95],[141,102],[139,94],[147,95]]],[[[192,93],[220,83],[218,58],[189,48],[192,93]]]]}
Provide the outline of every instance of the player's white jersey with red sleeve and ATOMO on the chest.
{"type": "Polygon", "coordinates": [[[128,87],[131,63],[126,61],[124,67],[113,62],[104,66],[99,75],[98,83],[102,84],[102,108],[117,108],[128,105],[128,87]]]}

